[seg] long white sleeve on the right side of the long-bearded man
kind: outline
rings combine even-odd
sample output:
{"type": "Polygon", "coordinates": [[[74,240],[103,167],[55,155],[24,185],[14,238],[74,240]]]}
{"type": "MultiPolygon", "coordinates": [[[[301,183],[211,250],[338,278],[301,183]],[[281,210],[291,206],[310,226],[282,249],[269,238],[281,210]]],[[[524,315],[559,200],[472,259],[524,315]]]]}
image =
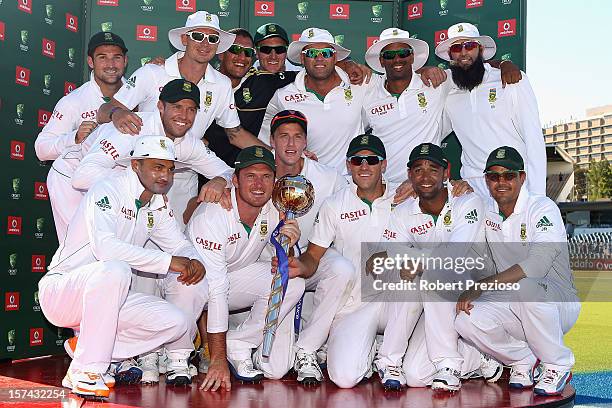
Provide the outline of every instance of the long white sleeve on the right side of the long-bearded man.
{"type": "Polygon", "coordinates": [[[546,145],[538,113],[538,102],[523,73],[523,79],[510,87],[513,98],[513,122],[525,142],[528,190],[537,195],[546,194],[546,145]]]}

